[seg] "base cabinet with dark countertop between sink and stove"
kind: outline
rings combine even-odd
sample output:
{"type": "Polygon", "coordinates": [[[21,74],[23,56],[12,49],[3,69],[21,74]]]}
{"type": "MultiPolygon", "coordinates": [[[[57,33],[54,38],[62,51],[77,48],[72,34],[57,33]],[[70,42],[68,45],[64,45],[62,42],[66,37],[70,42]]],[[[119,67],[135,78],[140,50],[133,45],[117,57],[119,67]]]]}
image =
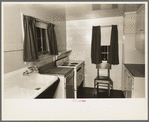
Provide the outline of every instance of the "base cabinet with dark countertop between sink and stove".
{"type": "MultiPolygon", "coordinates": [[[[55,64],[55,62],[53,62],[55,64]]],[[[74,98],[73,94],[69,94],[69,92],[74,93],[74,70],[73,68],[64,68],[64,67],[55,67],[51,66],[51,64],[46,64],[41,66],[39,69],[40,74],[45,75],[54,75],[60,79],[60,82],[57,86],[57,89],[54,94],[54,98],[56,99],[65,99],[65,98],[74,98]],[[68,89],[68,90],[67,90],[68,89]]]]}

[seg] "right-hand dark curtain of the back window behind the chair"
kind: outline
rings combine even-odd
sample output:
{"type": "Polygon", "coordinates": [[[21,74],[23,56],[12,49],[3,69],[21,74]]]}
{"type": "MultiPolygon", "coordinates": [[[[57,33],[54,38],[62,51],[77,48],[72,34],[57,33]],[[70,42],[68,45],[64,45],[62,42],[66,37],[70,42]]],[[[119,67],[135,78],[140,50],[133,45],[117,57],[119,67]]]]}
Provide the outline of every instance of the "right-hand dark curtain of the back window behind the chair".
{"type": "Polygon", "coordinates": [[[112,25],[108,63],[113,65],[119,64],[117,25],[112,25]]]}

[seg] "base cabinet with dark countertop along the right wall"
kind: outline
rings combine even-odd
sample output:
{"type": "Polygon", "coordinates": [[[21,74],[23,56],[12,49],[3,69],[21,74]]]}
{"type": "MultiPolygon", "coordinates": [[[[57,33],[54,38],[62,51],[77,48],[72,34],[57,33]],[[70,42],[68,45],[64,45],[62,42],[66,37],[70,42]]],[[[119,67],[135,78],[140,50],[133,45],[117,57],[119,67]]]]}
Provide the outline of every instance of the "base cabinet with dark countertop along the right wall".
{"type": "MultiPolygon", "coordinates": [[[[141,67],[139,64],[131,66],[131,64],[123,65],[123,83],[122,90],[125,98],[144,98],[145,97],[145,77],[140,75],[138,71],[133,71],[129,67],[141,67]],[[127,67],[128,66],[128,67],[127,67]],[[134,73],[135,71],[135,73],[134,73]]],[[[137,69],[136,69],[137,70],[137,69]]]]}

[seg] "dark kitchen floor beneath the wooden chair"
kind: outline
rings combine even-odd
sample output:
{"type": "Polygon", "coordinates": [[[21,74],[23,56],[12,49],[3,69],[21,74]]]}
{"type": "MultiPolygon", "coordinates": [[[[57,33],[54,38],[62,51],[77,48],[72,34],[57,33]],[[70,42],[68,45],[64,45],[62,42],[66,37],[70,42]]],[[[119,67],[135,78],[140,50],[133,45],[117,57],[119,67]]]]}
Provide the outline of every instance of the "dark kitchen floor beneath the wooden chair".
{"type": "Polygon", "coordinates": [[[94,95],[94,88],[79,88],[78,98],[125,98],[121,90],[111,90],[110,97],[107,96],[107,90],[100,89],[99,94],[94,95]]]}

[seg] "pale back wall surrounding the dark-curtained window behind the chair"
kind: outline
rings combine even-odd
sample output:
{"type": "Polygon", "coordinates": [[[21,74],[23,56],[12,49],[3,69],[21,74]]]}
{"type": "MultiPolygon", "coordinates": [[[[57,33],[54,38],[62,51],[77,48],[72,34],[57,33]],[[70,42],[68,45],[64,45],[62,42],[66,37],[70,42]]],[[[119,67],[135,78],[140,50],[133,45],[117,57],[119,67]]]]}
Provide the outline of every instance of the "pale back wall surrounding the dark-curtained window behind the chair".
{"type": "MultiPolygon", "coordinates": [[[[122,72],[122,46],[123,46],[123,17],[110,17],[98,19],[84,19],[66,21],[67,49],[71,49],[70,59],[85,60],[85,87],[94,86],[94,78],[97,76],[95,64],[91,63],[91,38],[92,26],[118,25],[119,36],[119,60],[120,64],[112,66],[111,78],[114,89],[121,89],[122,72]]],[[[111,28],[102,29],[101,44],[110,43],[111,28]]],[[[105,73],[103,71],[102,73],[105,73]]]]}

